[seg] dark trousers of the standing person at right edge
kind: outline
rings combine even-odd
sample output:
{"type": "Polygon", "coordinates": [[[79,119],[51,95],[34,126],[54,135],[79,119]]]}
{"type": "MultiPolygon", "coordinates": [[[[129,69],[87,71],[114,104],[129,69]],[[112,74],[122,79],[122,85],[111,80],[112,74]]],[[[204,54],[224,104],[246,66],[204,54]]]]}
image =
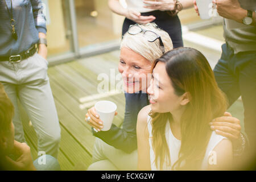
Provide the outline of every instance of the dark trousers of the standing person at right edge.
{"type": "MultiPolygon", "coordinates": [[[[214,70],[214,76],[220,89],[232,105],[242,96],[245,109],[245,133],[249,139],[250,153],[255,154],[256,144],[256,51],[238,52],[222,45],[222,55],[214,70]]],[[[255,165],[255,164],[254,164],[255,165]]]]}

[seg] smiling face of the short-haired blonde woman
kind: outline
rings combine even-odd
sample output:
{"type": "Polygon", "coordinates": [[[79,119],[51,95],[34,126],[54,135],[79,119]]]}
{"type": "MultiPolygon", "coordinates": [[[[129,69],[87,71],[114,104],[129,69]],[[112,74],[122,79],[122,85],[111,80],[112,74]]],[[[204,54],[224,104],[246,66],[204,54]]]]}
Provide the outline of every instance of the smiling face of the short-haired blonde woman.
{"type": "Polygon", "coordinates": [[[122,47],[118,71],[122,74],[127,93],[146,92],[150,83],[151,62],[129,48],[122,47]],[[148,81],[147,81],[148,80],[148,81]]]}

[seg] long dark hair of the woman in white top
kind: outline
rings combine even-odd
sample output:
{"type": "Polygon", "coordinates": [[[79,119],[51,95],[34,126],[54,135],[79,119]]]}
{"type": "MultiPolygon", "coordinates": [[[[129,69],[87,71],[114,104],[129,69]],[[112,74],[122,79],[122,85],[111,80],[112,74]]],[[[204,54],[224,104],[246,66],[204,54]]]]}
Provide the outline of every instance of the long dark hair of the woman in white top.
{"type": "MultiPolygon", "coordinates": [[[[224,114],[227,107],[226,98],[217,86],[207,59],[196,49],[182,47],[168,51],[154,62],[151,71],[159,61],[166,63],[166,72],[175,94],[181,96],[188,92],[190,96],[180,122],[179,159],[172,169],[200,169],[211,134],[209,122],[224,114]]],[[[165,127],[167,121],[172,120],[172,115],[151,111],[150,116],[155,164],[159,169],[163,169],[166,159],[170,164],[165,127]]]]}

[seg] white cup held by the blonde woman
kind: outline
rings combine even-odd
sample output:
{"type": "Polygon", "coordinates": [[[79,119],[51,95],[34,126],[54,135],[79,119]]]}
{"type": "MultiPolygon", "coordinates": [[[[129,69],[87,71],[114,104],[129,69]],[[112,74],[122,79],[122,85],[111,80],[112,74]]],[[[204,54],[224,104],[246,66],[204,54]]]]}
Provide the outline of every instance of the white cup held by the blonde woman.
{"type": "Polygon", "coordinates": [[[100,115],[101,121],[103,121],[103,129],[101,130],[108,131],[113,123],[117,105],[111,101],[98,101],[94,107],[98,115],[100,115]]]}

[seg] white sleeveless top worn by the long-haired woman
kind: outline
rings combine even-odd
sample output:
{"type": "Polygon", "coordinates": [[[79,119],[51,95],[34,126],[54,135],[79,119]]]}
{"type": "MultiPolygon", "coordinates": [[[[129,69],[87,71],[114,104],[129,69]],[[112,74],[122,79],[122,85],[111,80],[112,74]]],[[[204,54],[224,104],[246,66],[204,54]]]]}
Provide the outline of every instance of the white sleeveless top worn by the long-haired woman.
{"type": "MultiPolygon", "coordinates": [[[[151,170],[152,171],[158,171],[159,169],[156,168],[155,165],[155,153],[152,148],[152,125],[151,125],[152,118],[148,115],[147,117],[147,127],[148,127],[148,133],[149,133],[149,144],[150,144],[150,163],[151,163],[151,170]]],[[[213,151],[214,147],[217,146],[218,143],[221,142],[222,139],[226,139],[226,137],[223,137],[221,135],[218,135],[215,133],[215,131],[212,132],[212,135],[210,137],[207,150],[205,152],[205,156],[203,159],[203,162],[201,164],[201,170],[207,170],[208,168],[208,158],[211,152],[213,151]]],[[[179,151],[181,146],[181,140],[178,140],[174,137],[172,134],[172,130],[170,127],[169,122],[166,123],[166,142],[169,147],[170,151],[170,158],[171,158],[171,165],[167,166],[165,163],[163,165],[163,170],[171,170],[174,163],[179,159],[179,151]]]]}

